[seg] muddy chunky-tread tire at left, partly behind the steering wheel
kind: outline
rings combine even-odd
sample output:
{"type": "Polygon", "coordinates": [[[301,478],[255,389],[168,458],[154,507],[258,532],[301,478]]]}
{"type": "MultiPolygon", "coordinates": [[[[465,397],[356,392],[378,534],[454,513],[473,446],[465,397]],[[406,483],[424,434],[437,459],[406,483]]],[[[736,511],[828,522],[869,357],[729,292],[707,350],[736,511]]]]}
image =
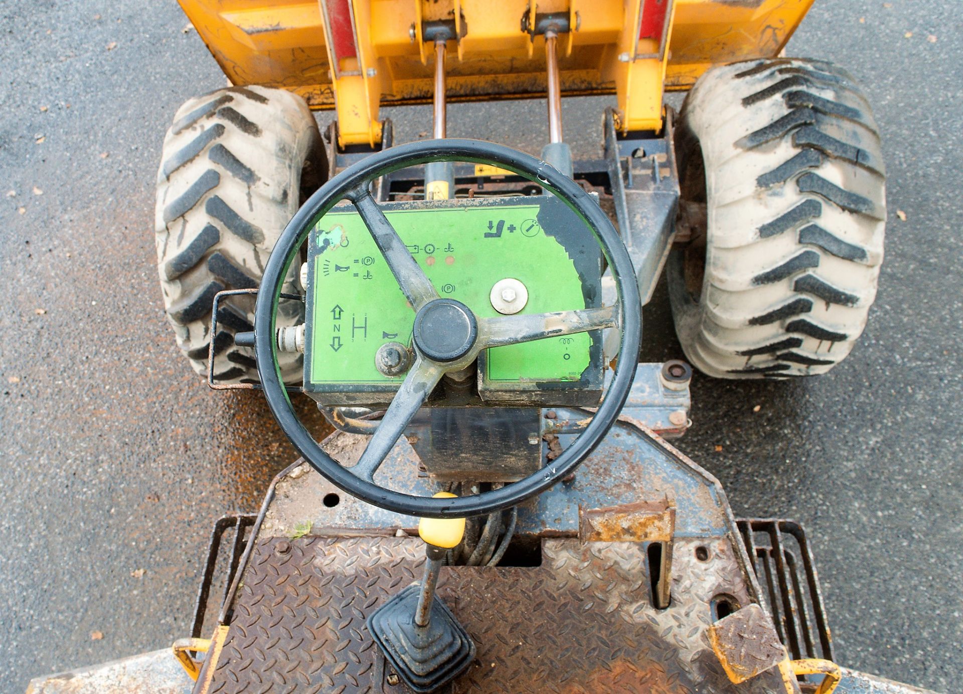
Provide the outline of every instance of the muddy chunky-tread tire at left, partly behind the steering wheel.
{"type": "MultiPolygon", "coordinates": [[[[207,374],[214,296],[258,287],[274,243],[307,194],[326,180],[318,125],[286,90],[232,87],[181,106],[164,139],[157,172],[157,268],[177,347],[207,374]]],[[[299,294],[299,263],[283,286],[299,294]]],[[[214,336],[215,379],[256,382],[253,349],[234,334],[253,330],[254,299],[227,297],[214,336]]],[[[303,304],[281,301],[278,326],[303,321],[303,304]]],[[[286,382],[302,356],[278,354],[286,382]]]]}

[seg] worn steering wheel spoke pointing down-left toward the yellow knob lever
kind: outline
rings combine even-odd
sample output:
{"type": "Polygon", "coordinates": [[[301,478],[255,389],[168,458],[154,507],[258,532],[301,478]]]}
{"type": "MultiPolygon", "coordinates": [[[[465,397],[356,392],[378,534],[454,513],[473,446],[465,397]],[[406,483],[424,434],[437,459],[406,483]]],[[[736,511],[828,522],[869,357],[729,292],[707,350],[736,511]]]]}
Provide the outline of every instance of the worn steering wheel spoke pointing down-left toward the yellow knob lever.
{"type": "Polygon", "coordinates": [[[420,358],[415,362],[351,473],[369,482],[374,480],[384,458],[402,437],[404,427],[411,422],[444,373],[444,369],[434,362],[420,358]]]}

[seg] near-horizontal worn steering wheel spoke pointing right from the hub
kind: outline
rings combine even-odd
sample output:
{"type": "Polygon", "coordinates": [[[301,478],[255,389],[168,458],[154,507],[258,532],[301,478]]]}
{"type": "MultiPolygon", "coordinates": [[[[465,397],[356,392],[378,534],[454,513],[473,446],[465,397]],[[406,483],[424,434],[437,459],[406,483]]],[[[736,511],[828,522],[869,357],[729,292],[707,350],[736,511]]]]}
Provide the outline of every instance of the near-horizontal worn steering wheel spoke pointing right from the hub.
{"type": "Polygon", "coordinates": [[[479,319],[479,345],[504,347],[618,325],[618,306],[479,319]]]}

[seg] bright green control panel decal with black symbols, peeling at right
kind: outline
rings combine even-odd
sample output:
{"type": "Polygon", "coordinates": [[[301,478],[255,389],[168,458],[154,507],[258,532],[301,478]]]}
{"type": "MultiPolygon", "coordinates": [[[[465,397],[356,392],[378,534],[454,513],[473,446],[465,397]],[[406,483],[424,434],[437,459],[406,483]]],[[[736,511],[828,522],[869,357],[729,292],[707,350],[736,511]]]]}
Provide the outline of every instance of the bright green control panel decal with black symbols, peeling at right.
{"type": "MultiPolygon", "coordinates": [[[[522,314],[586,307],[578,271],[565,248],[541,228],[539,205],[386,211],[386,217],[440,296],[479,317],[498,316],[489,294],[506,277],[529,300],[522,314]]],[[[355,212],[329,212],[310,236],[313,316],[309,381],[314,385],[401,382],[375,367],[377,348],[411,344],[414,311],[355,212]]],[[[495,347],[485,361],[491,381],[573,381],[589,364],[587,333],[495,347]]]]}

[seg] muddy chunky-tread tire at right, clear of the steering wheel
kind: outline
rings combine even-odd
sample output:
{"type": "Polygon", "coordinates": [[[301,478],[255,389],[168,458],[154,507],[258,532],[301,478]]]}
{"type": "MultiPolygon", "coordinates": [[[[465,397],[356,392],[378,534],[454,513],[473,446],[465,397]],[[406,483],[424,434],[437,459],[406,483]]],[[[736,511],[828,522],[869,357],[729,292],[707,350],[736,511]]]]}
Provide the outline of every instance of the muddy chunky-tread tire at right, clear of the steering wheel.
{"type": "Polygon", "coordinates": [[[676,156],[680,210],[705,205],[667,266],[690,362],[719,378],[839,364],[866,326],[886,223],[879,133],[853,78],[822,61],[714,67],[683,104],[676,156]]]}

